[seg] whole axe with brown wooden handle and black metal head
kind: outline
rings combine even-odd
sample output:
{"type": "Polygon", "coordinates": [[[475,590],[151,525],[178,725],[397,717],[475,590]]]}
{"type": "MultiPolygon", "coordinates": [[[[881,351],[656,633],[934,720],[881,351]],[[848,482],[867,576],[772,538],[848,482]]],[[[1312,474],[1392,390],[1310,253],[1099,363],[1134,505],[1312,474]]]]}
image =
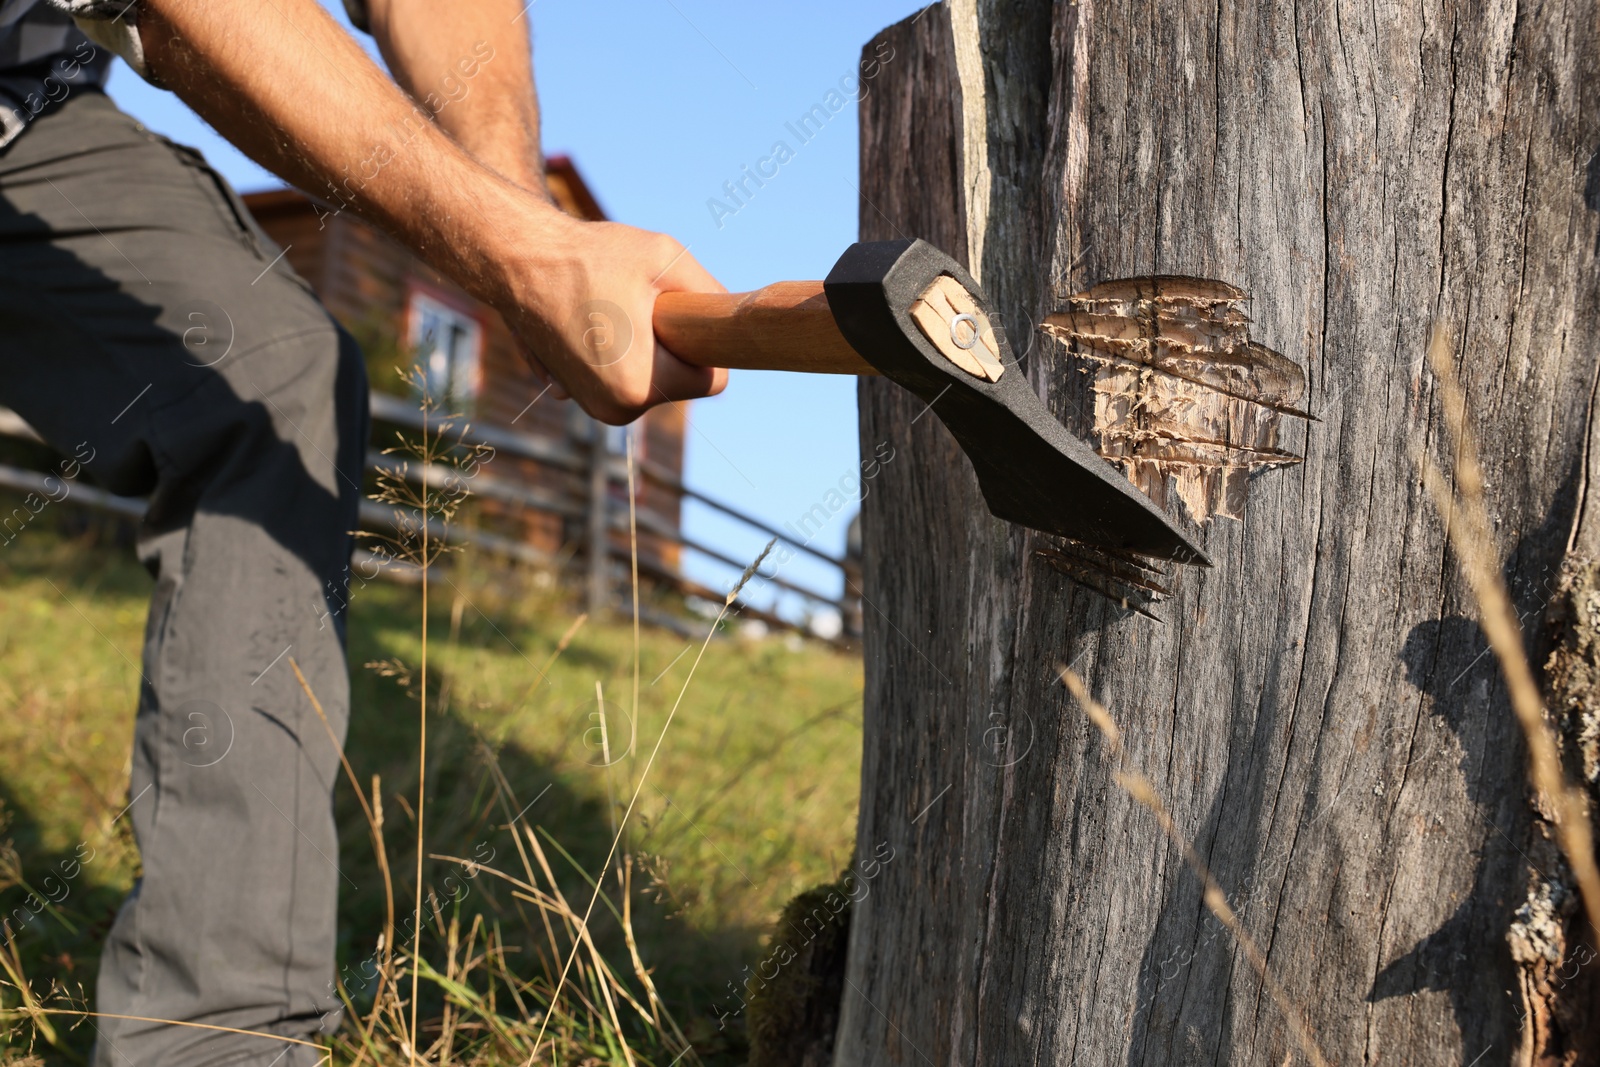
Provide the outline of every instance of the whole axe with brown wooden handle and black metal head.
{"type": "Polygon", "coordinates": [[[654,328],[696,366],[883,374],[944,421],[997,518],[1210,566],[1122,472],[1050,414],[990,328],[978,283],[926,242],[851,245],[826,282],[662,293],[654,328]]]}

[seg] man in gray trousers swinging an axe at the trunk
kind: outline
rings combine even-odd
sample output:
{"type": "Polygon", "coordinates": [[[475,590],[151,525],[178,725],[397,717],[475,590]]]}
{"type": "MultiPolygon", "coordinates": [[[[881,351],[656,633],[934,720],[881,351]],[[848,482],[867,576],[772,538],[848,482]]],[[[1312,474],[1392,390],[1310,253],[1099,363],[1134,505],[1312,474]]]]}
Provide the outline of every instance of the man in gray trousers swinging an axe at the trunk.
{"type": "Polygon", "coordinates": [[[726,373],[680,363],[650,322],[658,293],[717,282],[544,194],[523,2],[352,6],[390,82],[317,0],[0,0],[0,403],[150,498],[142,875],[101,965],[98,1065],[309,1065],[267,1035],[336,1019],[338,755],[285,661],[342,739],[366,443],[349,336],[197,154],[106,99],[107,50],[496,307],[590,414],[715,394],[726,373]],[[586,352],[592,301],[630,318],[626,358],[586,352]]]}

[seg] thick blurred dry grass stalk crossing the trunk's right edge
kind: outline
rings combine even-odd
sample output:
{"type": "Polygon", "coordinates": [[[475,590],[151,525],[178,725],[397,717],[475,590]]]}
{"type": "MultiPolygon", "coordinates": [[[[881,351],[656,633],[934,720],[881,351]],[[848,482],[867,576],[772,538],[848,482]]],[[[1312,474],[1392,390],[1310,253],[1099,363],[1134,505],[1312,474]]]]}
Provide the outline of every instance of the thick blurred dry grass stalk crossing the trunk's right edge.
{"type": "Polygon", "coordinates": [[[1438,382],[1445,424],[1456,445],[1456,462],[1451,488],[1443,472],[1419,454],[1422,485],[1445,518],[1450,544],[1478,605],[1478,625],[1499,661],[1501,673],[1506,675],[1512,712],[1528,741],[1528,781],[1533,782],[1541,806],[1555,822],[1555,838],[1578,880],[1589,925],[1600,934],[1600,870],[1595,869],[1589,801],[1581,789],[1568,784],[1562,769],[1560,749],[1546,717],[1544,694],[1534,681],[1517,608],[1506,590],[1499,553],[1490,533],[1488,509],[1483,504],[1483,467],[1478,464],[1472,427],[1467,426],[1467,398],[1450,362],[1450,342],[1442,326],[1434,328],[1427,358],[1438,382]]]}

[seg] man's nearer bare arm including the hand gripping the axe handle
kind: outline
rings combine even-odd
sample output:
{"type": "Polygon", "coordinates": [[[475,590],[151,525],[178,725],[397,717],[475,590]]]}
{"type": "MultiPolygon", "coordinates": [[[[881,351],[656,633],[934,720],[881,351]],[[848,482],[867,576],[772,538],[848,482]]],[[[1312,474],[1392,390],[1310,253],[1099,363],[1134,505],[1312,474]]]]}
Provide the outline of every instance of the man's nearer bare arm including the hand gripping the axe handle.
{"type": "Polygon", "coordinates": [[[150,74],[222,136],[301,189],[349,205],[498,309],[590,414],[626,422],[726,382],[726,371],[654,344],[658,293],[722,288],[677,242],[571,219],[477,162],[317,0],[144,0],[139,37],[150,74]],[[594,301],[622,309],[627,322],[610,325],[632,333],[626,358],[586,347],[594,301]]]}

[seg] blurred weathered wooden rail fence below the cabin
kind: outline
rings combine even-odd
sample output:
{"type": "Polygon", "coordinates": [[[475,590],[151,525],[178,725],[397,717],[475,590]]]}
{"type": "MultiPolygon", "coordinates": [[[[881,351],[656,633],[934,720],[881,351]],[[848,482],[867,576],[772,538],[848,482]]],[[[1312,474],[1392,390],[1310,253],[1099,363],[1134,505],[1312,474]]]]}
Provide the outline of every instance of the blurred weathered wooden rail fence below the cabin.
{"type": "MultiPolygon", "coordinates": [[[[424,416],[414,405],[387,394],[373,394],[371,414],[374,424],[386,424],[410,430],[421,430],[424,427],[424,416]]],[[[440,426],[450,422],[456,421],[430,418],[427,426],[429,429],[437,430],[440,426]]],[[[370,448],[366,453],[366,469],[370,472],[405,472],[408,480],[440,490],[446,490],[451,485],[459,485],[466,480],[470,483],[472,494],[478,498],[530,512],[558,515],[563,520],[582,520],[586,530],[582,552],[587,557],[590,568],[590,608],[594,609],[611,605],[627,606],[621,590],[616,589],[618,582],[613,581],[611,566],[616,561],[627,561],[630,558],[630,552],[619,545],[614,537],[616,533],[626,533],[629,528],[627,509],[618,507],[611,499],[613,486],[627,483],[627,461],[622,456],[610,454],[606,451],[605,434],[598,424],[590,437],[592,443],[587,445],[574,445],[573,442],[510,430],[501,426],[486,426],[467,421],[462,421],[461,424],[466,427],[459,434],[464,445],[486,445],[494,450],[496,456],[507,454],[520,459],[531,459],[547,469],[578,475],[574,480],[584,485],[584,491],[563,493],[546,486],[528,485],[502,474],[491,474],[482,467],[470,478],[464,478],[462,474],[453,467],[443,464],[419,464],[397,456],[386,456],[376,446],[370,448]]],[[[40,438],[26,421],[8,408],[0,408],[0,437],[43,443],[43,438],[40,438]]],[[[376,434],[374,443],[378,443],[376,434]]],[[[803,552],[832,568],[843,569],[845,566],[845,560],[814,549],[803,541],[797,541],[792,534],[774,528],[749,512],[728,504],[726,501],[720,501],[710,494],[688,488],[683,485],[682,478],[661,464],[642,459],[635,462],[635,474],[638,478],[674,494],[680,502],[694,501],[722,515],[726,515],[728,518],[733,518],[749,530],[758,531],[768,537],[778,537],[795,550],[803,552]]],[[[59,477],[10,464],[0,464],[0,490],[37,493],[46,499],[58,499],[56,494],[61,493],[61,486],[62,480],[59,477]]],[[[80,483],[70,485],[66,496],[59,498],[59,502],[70,502],[78,507],[102,510],[126,518],[139,518],[146,507],[144,499],[117,496],[114,493],[107,493],[106,490],[80,483]]],[[[392,520],[394,509],[390,506],[373,501],[362,502],[363,526],[382,530],[390,526],[392,520]]],[[[640,533],[650,534],[661,542],[678,545],[682,550],[698,553],[733,571],[742,571],[749,563],[749,560],[739,560],[715,545],[685,536],[678,523],[650,509],[635,507],[635,520],[640,533]]],[[[518,563],[531,563],[538,566],[558,565],[558,560],[552,553],[544,552],[536,545],[483,530],[472,530],[459,525],[446,528],[443,523],[430,520],[429,534],[453,544],[515,560],[518,563]]],[[[720,603],[725,595],[723,592],[702,582],[685,577],[674,568],[669,568],[656,560],[640,558],[640,573],[653,582],[667,585],[685,597],[699,597],[720,603]]],[[[403,577],[400,573],[395,576],[403,577]]],[[[762,579],[795,593],[810,605],[830,608],[845,617],[850,616],[853,605],[848,597],[848,582],[845,597],[830,597],[778,574],[763,573],[762,579]]],[[[774,627],[794,629],[795,625],[774,613],[763,611],[749,603],[741,603],[741,616],[758,619],[774,627]]],[[[672,624],[670,619],[659,616],[653,621],[669,625],[672,624]]]]}

